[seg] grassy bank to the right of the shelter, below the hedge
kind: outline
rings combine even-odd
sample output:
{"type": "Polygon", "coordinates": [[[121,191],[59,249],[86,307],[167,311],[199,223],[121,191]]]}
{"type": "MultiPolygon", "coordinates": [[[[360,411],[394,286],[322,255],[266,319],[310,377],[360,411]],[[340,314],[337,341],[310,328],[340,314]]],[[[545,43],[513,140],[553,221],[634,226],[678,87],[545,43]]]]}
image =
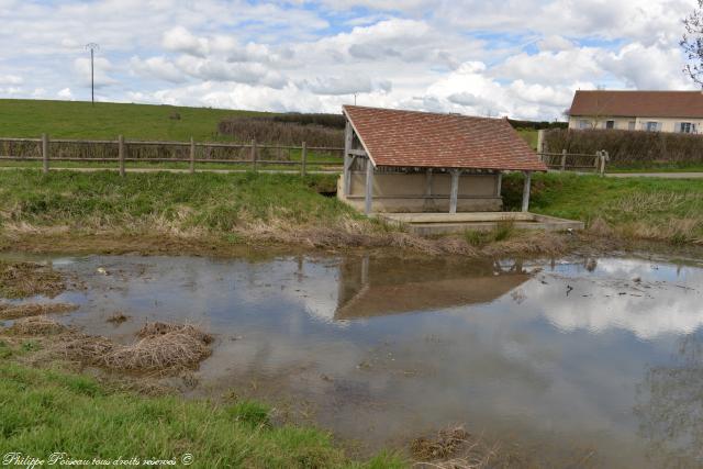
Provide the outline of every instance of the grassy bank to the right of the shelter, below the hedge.
{"type": "MultiPolygon", "coordinates": [[[[517,208],[522,177],[505,178],[517,208]]],[[[593,234],[624,239],[703,244],[703,180],[547,174],[533,179],[531,211],[585,222],[593,234]]]]}

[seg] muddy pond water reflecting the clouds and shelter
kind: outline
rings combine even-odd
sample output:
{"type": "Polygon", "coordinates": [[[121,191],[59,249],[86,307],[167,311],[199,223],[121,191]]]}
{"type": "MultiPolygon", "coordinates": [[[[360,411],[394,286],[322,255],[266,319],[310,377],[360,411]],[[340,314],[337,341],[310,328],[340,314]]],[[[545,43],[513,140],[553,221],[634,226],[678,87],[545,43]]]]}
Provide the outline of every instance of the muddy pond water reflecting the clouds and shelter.
{"type": "Polygon", "coordinates": [[[63,321],[123,340],[198,323],[217,342],[188,393],[266,398],[361,453],[465,423],[554,466],[703,465],[695,263],[52,260],[86,286],[63,321]]]}

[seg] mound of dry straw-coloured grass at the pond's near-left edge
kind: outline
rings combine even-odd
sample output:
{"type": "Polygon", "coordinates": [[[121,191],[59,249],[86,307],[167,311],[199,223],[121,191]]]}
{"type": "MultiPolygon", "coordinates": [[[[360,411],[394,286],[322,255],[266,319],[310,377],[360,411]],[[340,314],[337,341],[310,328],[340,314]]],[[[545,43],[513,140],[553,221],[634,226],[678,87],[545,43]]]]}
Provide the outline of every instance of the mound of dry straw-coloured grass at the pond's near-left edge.
{"type": "Polygon", "coordinates": [[[68,358],[113,370],[163,371],[194,368],[210,356],[213,338],[192,325],[146,324],[138,340],[115,344],[105,337],[80,335],[64,344],[68,358]]]}

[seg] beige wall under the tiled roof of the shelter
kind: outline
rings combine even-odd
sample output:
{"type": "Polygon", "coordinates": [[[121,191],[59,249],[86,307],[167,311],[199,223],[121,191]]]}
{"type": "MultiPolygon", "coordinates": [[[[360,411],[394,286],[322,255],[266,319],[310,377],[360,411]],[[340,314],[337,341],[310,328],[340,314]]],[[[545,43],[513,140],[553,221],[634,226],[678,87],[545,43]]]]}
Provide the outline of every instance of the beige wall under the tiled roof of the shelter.
{"type": "MultiPolygon", "coordinates": [[[[373,211],[379,212],[448,212],[451,176],[433,174],[432,187],[423,172],[373,175],[373,211]]],[[[349,196],[344,192],[344,176],[337,185],[337,197],[358,210],[364,210],[366,172],[353,171],[349,196]]],[[[461,175],[457,199],[458,212],[493,212],[502,210],[498,194],[498,175],[461,175]]]]}

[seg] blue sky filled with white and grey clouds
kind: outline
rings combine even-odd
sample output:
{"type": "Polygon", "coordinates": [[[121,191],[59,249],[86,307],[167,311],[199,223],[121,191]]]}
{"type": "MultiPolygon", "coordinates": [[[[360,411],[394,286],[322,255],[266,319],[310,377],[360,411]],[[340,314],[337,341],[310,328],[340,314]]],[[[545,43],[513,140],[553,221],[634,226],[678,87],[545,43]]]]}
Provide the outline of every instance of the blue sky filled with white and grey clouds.
{"type": "Polygon", "coordinates": [[[563,120],[578,89],[695,89],[695,0],[0,0],[0,98],[563,120]]]}

